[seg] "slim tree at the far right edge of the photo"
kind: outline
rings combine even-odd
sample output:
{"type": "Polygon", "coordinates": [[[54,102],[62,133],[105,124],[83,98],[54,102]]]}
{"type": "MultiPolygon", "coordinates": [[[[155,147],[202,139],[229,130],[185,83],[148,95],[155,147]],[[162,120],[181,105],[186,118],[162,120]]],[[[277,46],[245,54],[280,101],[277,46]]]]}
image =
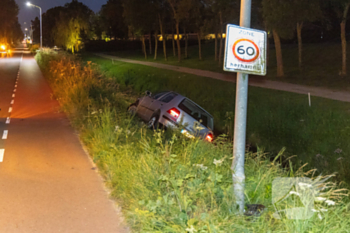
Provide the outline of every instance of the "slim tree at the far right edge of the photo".
{"type": "Polygon", "coordinates": [[[340,36],[342,45],[342,70],[341,75],[346,75],[346,20],[350,7],[350,0],[330,0],[330,6],[334,9],[340,21],[340,36]]]}

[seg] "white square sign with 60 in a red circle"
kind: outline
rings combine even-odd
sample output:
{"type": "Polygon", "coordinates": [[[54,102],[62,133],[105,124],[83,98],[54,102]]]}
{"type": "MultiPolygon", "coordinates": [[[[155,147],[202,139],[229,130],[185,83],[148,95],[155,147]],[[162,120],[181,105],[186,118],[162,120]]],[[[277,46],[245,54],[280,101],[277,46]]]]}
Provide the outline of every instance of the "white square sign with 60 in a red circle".
{"type": "Polygon", "coordinates": [[[224,70],[266,75],[266,32],[228,24],[224,70]]]}

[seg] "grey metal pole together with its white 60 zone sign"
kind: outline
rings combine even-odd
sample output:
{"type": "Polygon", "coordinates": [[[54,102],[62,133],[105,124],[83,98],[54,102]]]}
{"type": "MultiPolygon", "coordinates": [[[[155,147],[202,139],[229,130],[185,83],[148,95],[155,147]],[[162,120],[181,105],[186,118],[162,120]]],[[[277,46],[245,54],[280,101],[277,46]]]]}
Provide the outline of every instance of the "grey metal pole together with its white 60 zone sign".
{"type": "Polygon", "coordinates": [[[241,1],[240,26],[227,25],[224,70],[237,72],[233,161],[233,192],[244,213],[248,74],[266,75],[266,32],[250,29],[251,0],[241,1]]]}

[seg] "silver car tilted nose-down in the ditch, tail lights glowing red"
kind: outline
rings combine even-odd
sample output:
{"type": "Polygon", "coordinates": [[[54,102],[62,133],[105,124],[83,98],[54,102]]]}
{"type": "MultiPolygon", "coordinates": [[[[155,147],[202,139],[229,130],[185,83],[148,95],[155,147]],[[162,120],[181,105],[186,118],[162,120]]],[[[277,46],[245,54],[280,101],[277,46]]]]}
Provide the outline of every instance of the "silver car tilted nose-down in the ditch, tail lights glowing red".
{"type": "Polygon", "coordinates": [[[146,91],[145,96],[128,107],[128,112],[146,121],[149,128],[180,128],[187,137],[202,137],[209,142],[214,139],[213,116],[189,98],[173,91],[154,95],[146,91]]]}

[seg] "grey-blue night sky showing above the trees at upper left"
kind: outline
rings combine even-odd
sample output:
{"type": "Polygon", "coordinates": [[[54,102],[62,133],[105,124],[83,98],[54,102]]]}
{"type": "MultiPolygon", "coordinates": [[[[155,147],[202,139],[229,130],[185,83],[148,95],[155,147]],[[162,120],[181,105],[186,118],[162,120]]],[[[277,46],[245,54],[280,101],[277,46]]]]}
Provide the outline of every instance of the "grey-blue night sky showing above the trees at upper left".
{"type": "MultiPolygon", "coordinates": [[[[39,9],[36,7],[28,7],[26,5],[27,0],[16,0],[19,7],[19,23],[22,26],[22,30],[24,28],[30,28],[31,20],[34,20],[35,17],[39,17],[39,9]],[[27,24],[24,24],[26,22],[27,24]]],[[[43,13],[55,6],[63,6],[67,2],[71,2],[71,0],[30,0],[34,5],[40,6],[43,13]]],[[[91,10],[97,12],[101,9],[101,6],[106,4],[107,0],[79,0],[79,2],[87,5],[91,10]]]]}

